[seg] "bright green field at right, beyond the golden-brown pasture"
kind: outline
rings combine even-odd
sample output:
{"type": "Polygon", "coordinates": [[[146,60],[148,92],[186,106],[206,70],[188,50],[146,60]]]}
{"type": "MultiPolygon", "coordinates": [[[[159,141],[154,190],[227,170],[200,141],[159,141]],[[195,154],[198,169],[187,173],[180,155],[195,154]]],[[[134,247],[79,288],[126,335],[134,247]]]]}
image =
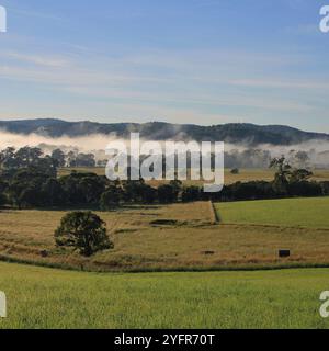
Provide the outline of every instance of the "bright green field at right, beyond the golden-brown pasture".
{"type": "Polygon", "coordinates": [[[223,223],[329,229],[329,197],[220,203],[223,223]]]}

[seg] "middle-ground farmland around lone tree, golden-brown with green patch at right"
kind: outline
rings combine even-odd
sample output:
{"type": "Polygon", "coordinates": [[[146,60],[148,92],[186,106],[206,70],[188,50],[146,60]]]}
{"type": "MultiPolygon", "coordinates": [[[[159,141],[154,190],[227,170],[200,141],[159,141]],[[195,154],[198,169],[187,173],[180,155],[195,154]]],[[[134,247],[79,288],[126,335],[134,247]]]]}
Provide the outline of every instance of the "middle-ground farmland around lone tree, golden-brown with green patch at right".
{"type": "Polygon", "coordinates": [[[54,230],[65,212],[2,211],[0,258],[98,271],[329,265],[328,201],[277,200],[277,216],[272,203],[220,203],[220,224],[214,224],[207,202],[101,212],[115,247],[90,259],[55,247],[54,230]],[[242,220],[253,206],[254,215],[242,220]],[[272,220],[266,220],[269,215],[272,220]],[[282,248],[292,256],[279,259],[282,248]]]}

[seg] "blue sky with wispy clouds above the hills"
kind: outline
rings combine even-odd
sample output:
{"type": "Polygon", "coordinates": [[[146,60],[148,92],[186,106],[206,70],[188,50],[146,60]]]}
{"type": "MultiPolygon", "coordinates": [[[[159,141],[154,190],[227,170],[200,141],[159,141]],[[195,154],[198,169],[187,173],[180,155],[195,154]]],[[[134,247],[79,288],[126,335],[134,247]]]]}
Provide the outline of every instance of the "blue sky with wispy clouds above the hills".
{"type": "Polygon", "coordinates": [[[0,118],[329,133],[329,0],[0,0],[0,118]]]}

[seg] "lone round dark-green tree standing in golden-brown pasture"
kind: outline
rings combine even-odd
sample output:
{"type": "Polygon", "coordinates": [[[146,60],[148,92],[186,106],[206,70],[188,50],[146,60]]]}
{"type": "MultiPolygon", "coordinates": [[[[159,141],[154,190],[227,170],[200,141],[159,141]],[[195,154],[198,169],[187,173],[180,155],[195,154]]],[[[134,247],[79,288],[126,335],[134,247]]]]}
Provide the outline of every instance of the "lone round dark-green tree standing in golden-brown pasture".
{"type": "Polygon", "coordinates": [[[57,246],[73,247],[86,257],[113,248],[105,223],[90,211],[64,216],[55,231],[55,240],[57,246]]]}

